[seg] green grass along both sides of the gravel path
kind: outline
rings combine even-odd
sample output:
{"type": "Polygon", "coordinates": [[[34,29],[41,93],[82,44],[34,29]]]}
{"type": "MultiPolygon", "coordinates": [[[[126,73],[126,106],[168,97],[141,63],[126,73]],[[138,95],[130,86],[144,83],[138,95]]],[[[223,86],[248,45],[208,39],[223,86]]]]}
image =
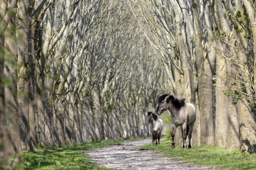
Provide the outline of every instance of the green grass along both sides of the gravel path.
{"type": "MultiPolygon", "coordinates": [[[[145,138],[105,140],[76,144],[67,147],[41,147],[34,152],[24,152],[20,155],[19,170],[107,170],[90,161],[84,152],[87,149],[108,147],[128,141],[145,138]]],[[[151,137],[147,137],[151,139],[151,137]]],[[[154,149],[163,156],[169,156],[187,163],[205,164],[214,167],[225,167],[236,170],[256,169],[256,154],[239,153],[239,149],[224,149],[211,145],[192,146],[183,149],[178,145],[172,149],[169,141],[164,140],[160,145],[145,144],[143,149],[154,149]]]]}

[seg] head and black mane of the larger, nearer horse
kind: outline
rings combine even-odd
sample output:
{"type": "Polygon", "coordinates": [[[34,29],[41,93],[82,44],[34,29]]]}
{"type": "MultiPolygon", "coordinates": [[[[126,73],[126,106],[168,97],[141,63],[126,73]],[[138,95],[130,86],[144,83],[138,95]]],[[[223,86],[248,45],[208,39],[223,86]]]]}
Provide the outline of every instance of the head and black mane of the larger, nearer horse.
{"type": "Polygon", "coordinates": [[[186,103],[184,98],[178,99],[170,94],[163,94],[158,98],[157,115],[161,115],[164,111],[169,109],[170,104],[172,104],[172,107],[177,111],[180,111],[180,108],[182,108],[186,103]]]}

